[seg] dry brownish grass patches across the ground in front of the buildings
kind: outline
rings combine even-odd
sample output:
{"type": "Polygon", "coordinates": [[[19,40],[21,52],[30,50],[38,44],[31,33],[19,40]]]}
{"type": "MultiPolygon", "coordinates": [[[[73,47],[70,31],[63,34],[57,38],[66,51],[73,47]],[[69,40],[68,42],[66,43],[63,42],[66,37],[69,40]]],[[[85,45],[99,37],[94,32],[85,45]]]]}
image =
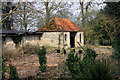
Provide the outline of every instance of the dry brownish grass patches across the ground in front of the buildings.
{"type": "MultiPolygon", "coordinates": [[[[87,46],[91,47],[96,51],[98,54],[97,58],[109,58],[111,59],[112,65],[116,65],[117,61],[111,58],[112,55],[112,47],[111,46],[87,46]]],[[[76,49],[76,52],[78,52],[79,48],[76,49]]],[[[24,54],[23,58],[16,58],[18,56],[21,56],[21,48],[19,48],[16,51],[12,50],[3,50],[3,53],[5,57],[8,59],[7,64],[11,63],[17,67],[17,71],[19,74],[20,78],[25,78],[28,76],[36,76],[36,71],[39,69],[39,59],[37,54],[33,54],[36,51],[35,46],[26,46],[25,47],[25,52],[30,53],[30,55],[24,54]],[[14,59],[13,61],[9,61],[9,59],[14,59]]],[[[70,50],[67,50],[67,54],[70,52],[70,50]]],[[[67,54],[65,57],[67,57],[67,54]]],[[[57,53],[55,49],[48,49],[47,50],[47,66],[51,67],[54,65],[58,65],[55,70],[50,71],[48,73],[48,76],[51,76],[52,78],[54,77],[64,77],[63,75],[63,68],[64,65],[62,66],[61,62],[63,61],[63,55],[62,53],[57,53]],[[59,67],[60,66],[60,67],[59,67]],[[61,67],[62,66],[62,67],[61,67]],[[59,68],[58,68],[59,67],[59,68]]],[[[116,71],[116,68],[113,68],[114,71],[116,71]]],[[[66,73],[64,73],[66,74],[66,73]]]]}

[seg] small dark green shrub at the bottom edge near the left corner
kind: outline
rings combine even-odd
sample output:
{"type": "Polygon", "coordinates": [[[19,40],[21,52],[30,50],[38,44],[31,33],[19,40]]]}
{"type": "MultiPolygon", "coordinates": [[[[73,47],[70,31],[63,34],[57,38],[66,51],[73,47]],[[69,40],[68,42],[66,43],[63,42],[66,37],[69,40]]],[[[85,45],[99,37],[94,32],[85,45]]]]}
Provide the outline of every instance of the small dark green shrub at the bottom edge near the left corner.
{"type": "Polygon", "coordinates": [[[9,64],[9,68],[10,68],[10,77],[9,77],[9,80],[19,80],[19,76],[18,76],[16,67],[12,66],[11,64],[9,64]]]}

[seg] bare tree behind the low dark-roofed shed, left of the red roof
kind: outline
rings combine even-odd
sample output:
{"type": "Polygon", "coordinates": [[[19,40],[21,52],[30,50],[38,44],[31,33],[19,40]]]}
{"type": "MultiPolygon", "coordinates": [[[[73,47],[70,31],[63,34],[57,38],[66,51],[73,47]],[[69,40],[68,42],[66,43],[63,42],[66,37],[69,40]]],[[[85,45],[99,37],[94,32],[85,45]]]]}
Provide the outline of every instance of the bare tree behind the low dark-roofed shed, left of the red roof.
{"type": "Polygon", "coordinates": [[[29,30],[31,27],[36,25],[36,17],[37,14],[32,6],[35,3],[30,2],[21,2],[19,8],[16,12],[14,12],[14,28],[20,30],[29,30]]]}

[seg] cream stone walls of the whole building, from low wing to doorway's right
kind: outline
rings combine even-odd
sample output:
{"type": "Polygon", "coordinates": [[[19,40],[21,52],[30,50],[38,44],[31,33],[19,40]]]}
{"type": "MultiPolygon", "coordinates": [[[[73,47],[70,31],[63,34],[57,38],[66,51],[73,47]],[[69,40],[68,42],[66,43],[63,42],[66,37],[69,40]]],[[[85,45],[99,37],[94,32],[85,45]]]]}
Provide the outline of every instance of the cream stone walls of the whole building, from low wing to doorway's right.
{"type": "MultiPolygon", "coordinates": [[[[79,47],[77,42],[79,42],[81,46],[84,46],[83,32],[76,33],[75,47],[79,47]],[[81,34],[81,41],[80,41],[80,34],[81,34]]],[[[23,36],[21,43],[23,44],[20,44],[20,46],[30,44],[36,46],[51,46],[51,47],[60,47],[60,48],[63,48],[63,44],[64,44],[65,48],[69,48],[71,46],[70,32],[44,32],[43,34],[39,34],[39,35],[26,35],[23,36]],[[66,40],[65,40],[65,35],[66,35],[66,40]]],[[[15,44],[12,41],[11,37],[8,36],[5,38],[4,47],[9,49],[15,49],[15,44]]]]}

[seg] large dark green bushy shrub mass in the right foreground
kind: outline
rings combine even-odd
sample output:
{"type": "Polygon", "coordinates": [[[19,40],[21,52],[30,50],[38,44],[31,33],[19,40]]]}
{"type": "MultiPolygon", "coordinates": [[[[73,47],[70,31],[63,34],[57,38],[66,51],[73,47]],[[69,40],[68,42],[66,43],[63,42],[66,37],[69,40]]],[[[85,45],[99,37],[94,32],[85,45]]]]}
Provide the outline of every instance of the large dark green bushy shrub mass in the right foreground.
{"type": "Polygon", "coordinates": [[[110,65],[105,59],[95,60],[94,56],[88,57],[86,54],[84,56],[87,57],[83,57],[82,60],[77,54],[68,54],[66,65],[73,78],[82,80],[111,80],[113,78],[110,65]]]}

